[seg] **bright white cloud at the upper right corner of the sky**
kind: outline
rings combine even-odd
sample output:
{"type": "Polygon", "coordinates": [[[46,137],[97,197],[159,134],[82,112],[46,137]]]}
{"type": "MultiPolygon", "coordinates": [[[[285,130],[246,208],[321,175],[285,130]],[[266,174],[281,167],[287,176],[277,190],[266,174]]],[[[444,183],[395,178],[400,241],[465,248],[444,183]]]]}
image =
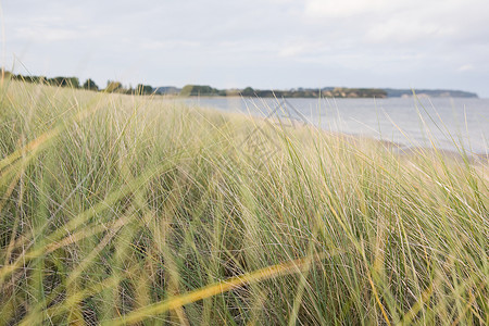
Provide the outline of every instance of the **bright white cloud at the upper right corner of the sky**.
{"type": "Polygon", "coordinates": [[[480,33],[489,13],[487,0],[306,0],[311,24],[364,35],[367,41],[417,38],[467,38],[480,33]]]}

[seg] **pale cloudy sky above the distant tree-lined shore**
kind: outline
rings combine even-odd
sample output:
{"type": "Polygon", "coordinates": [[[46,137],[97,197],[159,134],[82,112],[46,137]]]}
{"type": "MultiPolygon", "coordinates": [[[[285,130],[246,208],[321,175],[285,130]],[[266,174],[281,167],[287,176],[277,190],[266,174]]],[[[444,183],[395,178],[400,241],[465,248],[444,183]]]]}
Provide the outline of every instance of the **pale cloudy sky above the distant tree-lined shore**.
{"type": "Polygon", "coordinates": [[[489,98],[488,0],[0,0],[21,74],[216,88],[461,89],[489,98]]]}

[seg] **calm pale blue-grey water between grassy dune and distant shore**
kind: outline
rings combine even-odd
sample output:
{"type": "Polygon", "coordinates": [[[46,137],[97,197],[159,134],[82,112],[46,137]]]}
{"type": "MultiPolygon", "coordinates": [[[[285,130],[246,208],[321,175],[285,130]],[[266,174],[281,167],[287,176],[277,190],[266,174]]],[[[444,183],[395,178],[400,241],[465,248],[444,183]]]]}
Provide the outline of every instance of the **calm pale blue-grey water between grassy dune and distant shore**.
{"type": "Polygon", "coordinates": [[[489,99],[191,98],[189,105],[305,121],[325,130],[374,137],[405,147],[489,151],[489,99]]]}

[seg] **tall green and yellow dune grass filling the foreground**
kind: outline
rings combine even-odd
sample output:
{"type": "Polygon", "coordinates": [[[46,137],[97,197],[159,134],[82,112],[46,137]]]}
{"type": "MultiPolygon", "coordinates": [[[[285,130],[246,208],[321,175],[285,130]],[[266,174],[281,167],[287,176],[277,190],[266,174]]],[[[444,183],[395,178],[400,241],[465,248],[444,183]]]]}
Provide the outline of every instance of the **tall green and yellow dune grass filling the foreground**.
{"type": "Polygon", "coordinates": [[[0,324],[488,324],[488,165],[5,82],[0,324]]]}

